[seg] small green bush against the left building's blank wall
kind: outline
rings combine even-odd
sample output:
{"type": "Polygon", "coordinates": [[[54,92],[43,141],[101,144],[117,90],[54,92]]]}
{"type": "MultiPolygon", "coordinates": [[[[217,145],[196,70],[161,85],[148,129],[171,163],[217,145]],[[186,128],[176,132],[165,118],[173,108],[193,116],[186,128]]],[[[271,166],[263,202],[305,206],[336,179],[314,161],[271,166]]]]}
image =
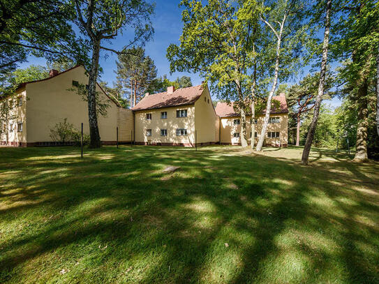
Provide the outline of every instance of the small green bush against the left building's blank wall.
{"type": "MultiPolygon", "coordinates": [[[[50,137],[55,142],[75,142],[75,144],[80,145],[82,134],[80,130],[74,128],[73,124],[64,119],[63,122],[59,122],[50,128],[50,137]]],[[[83,144],[89,144],[88,134],[83,133],[83,144]]]]}

